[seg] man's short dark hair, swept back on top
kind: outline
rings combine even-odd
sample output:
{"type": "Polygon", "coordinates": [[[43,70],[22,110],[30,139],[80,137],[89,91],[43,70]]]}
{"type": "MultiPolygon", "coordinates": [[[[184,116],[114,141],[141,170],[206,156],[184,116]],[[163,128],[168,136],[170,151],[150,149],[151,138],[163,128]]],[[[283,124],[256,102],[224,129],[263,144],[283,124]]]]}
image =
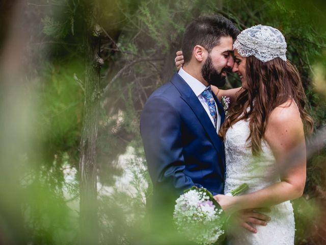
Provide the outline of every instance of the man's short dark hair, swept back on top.
{"type": "Polygon", "coordinates": [[[221,37],[232,37],[233,40],[239,34],[239,29],[231,20],[220,15],[201,16],[193,20],[185,29],[182,38],[182,54],[184,62],[191,60],[193,49],[201,45],[208,52],[220,44],[221,37]]]}

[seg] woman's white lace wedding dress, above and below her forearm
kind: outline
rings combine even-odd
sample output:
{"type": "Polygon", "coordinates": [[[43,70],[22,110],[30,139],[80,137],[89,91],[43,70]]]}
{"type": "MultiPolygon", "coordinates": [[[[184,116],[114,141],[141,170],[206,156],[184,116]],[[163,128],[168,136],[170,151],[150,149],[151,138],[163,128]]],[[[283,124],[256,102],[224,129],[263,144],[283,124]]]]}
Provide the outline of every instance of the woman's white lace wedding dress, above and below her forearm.
{"type": "MultiPolygon", "coordinates": [[[[254,158],[251,148],[248,148],[249,121],[240,120],[226,133],[226,180],[224,193],[230,192],[242,183],[248,183],[250,193],[263,189],[275,182],[279,176],[271,177],[275,170],[275,158],[267,142],[262,140],[261,156],[254,158]]],[[[250,140],[249,140],[250,143],[250,140]]],[[[228,227],[227,241],[232,245],[245,244],[294,244],[294,215],[289,201],[270,207],[271,212],[265,213],[271,217],[267,226],[256,226],[257,233],[249,232],[243,227],[228,227]]]]}

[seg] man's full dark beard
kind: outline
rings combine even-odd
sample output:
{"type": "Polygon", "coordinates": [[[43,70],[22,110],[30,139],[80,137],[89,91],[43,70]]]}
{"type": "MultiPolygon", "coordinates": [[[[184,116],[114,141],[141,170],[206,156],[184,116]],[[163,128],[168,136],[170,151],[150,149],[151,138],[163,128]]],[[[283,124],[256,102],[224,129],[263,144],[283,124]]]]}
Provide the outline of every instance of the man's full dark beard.
{"type": "Polygon", "coordinates": [[[219,73],[213,66],[212,58],[208,55],[202,67],[201,74],[209,85],[223,87],[225,84],[225,77],[222,76],[222,72],[226,70],[226,68],[223,68],[219,73]]]}

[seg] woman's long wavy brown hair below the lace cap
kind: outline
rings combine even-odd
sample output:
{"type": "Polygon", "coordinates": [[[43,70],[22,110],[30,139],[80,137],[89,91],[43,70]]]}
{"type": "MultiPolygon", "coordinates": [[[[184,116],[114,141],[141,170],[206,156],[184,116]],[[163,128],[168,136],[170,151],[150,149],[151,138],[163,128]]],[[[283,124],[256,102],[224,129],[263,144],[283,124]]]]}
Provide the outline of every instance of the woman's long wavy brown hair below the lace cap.
{"type": "Polygon", "coordinates": [[[262,62],[250,56],[246,60],[245,79],[249,89],[238,92],[236,104],[230,108],[229,116],[220,130],[221,137],[225,139],[227,130],[237,121],[249,119],[250,135],[247,141],[251,140],[253,155],[259,155],[270,112],[289,99],[296,103],[300,111],[305,132],[312,133],[313,120],[307,113],[307,98],[301,78],[290,61],[275,58],[262,62]]]}

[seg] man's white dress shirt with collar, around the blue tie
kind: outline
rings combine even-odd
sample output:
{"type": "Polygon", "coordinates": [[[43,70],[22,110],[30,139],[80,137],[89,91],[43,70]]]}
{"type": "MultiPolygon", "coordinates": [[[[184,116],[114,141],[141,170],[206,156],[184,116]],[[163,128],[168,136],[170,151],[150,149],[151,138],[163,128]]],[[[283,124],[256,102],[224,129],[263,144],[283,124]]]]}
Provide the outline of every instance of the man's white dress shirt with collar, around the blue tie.
{"type": "MultiPolygon", "coordinates": [[[[211,116],[211,114],[209,112],[208,103],[207,103],[206,99],[202,96],[202,92],[204,92],[204,90],[206,90],[208,87],[210,87],[210,85],[206,87],[199,80],[197,80],[193,76],[189,75],[184,69],[182,69],[182,67],[180,68],[178,74],[180,75],[181,78],[183,78],[183,80],[194,91],[194,93],[198,97],[198,100],[200,101],[200,103],[204,107],[207,115],[209,116],[212,124],[214,125],[214,119],[213,119],[213,117],[211,116]]],[[[219,110],[218,110],[218,105],[216,105],[216,102],[215,102],[215,108],[216,108],[216,116],[217,116],[217,119],[218,119],[217,123],[216,123],[216,126],[217,126],[216,127],[216,133],[219,133],[220,126],[221,126],[221,116],[220,116],[220,113],[219,113],[219,110]]]]}

